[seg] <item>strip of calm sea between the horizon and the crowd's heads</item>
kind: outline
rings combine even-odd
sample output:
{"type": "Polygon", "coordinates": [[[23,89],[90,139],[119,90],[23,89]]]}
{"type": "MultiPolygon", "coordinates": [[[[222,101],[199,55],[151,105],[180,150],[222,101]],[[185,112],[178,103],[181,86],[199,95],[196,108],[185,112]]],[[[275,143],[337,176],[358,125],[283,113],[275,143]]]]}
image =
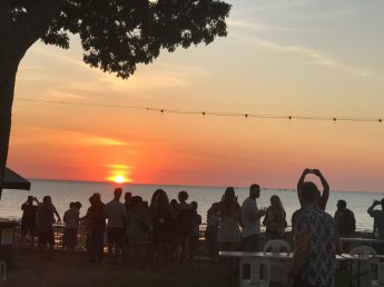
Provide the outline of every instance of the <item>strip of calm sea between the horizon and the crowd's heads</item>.
{"type": "MultiPolygon", "coordinates": [[[[50,196],[58,212],[63,212],[69,208],[71,201],[80,201],[81,215],[85,215],[89,207],[89,197],[93,192],[99,192],[104,202],[112,199],[116,184],[111,182],[89,182],[89,181],[68,181],[68,180],[41,180],[31,179],[31,190],[3,190],[0,200],[0,217],[19,219],[21,217],[21,205],[28,196],[36,196],[40,201],[43,196],[50,196]]],[[[164,185],[120,185],[122,191],[130,191],[134,196],[140,196],[144,200],[150,201],[154,191],[158,188],[164,189],[169,199],[176,199],[180,190],[186,190],[189,195],[189,202],[198,202],[198,212],[206,220],[208,208],[220,200],[225,187],[203,187],[203,186],[164,186],[164,185]]],[[[239,204],[248,196],[247,187],[236,188],[239,204]]],[[[258,207],[268,207],[270,196],[277,195],[287,214],[287,221],[291,225],[292,214],[299,208],[297,194],[295,190],[287,189],[262,189],[260,197],[257,199],[258,207]]],[[[373,228],[373,218],[366,212],[373,200],[381,200],[383,192],[368,191],[331,191],[326,211],[332,216],[336,211],[336,202],[344,199],[355,214],[357,229],[368,231],[373,228]]]]}

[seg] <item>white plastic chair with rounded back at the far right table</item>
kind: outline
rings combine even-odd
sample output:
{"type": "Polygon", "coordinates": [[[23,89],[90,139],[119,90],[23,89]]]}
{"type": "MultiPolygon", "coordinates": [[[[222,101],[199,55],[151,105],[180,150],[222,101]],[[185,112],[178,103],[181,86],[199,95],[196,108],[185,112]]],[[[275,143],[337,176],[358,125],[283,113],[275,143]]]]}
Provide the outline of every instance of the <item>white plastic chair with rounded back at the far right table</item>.
{"type": "MultiPolygon", "coordinates": [[[[376,250],[374,248],[372,248],[371,246],[366,246],[366,245],[362,245],[362,246],[357,246],[355,248],[353,248],[349,251],[351,255],[357,255],[357,256],[376,256],[376,250]]],[[[375,259],[375,258],[373,258],[375,259]]],[[[372,259],[371,260],[364,260],[364,261],[353,261],[354,264],[351,265],[352,268],[352,274],[356,274],[357,276],[360,276],[360,283],[361,286],[371,286],[372,285],[372,274],[373,274],[373,269],[372,268],[372,264],[375,264],[375,261],[373,263],[372,259]],[[358,266],[360,265],[360,266],[358,266]],[[360,274],[358,274],[360,273],[360,274]]],[[[352,276],[355,277],[355,276],[352,276]]],[[[380,285],[378,285],[380,286],[380,285]]]]}

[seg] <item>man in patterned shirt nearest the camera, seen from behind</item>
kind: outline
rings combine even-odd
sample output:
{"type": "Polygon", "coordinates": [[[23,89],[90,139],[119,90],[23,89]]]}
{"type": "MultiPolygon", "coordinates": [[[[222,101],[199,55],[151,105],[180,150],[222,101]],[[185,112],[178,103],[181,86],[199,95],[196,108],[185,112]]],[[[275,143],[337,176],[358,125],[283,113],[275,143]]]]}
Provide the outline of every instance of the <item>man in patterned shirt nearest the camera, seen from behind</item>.
{"type": "Polygon", "coordinates": [[[315,184],[302,185],[302,209],[295,216],[295,255],[286,286],[333,286],[336,253],[341,244],[336,224],[317,202],[319,191],[315,184]]]}

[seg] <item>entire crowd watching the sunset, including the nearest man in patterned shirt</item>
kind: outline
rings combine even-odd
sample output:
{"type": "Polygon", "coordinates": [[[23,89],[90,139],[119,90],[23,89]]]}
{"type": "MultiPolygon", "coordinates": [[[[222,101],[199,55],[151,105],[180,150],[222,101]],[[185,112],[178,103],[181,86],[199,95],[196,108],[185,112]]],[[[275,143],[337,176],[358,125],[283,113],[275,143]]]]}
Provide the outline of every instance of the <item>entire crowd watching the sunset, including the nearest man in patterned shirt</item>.
{"type": "MultiPolygon", "coordinates": [[[[71,202],[63,215],[66,224],[63,246],[73,250],[77,245],[79,224],[87,228],[87,250],[90,260],[104,260],[104,238],[107,234],[108,253],[116,259],[144,267],[185,265],[194,260],[199,243],[201,216],[197,202],[188,202],[188,194],[180,191],[178,198],[169,200],[163,189],[157,189],[150,202],[131,192],[120,201],[121,188],[116,188],[114,199],[104,204],[99,194],[89,198],[90,207],[80,217],[80,202],[71,202]]],[[[280,198],[270,197],[270,206],[259,208],[257,198],[260,187],[249,187],[249,196],[242,202],[233,187],[226,188],[220,201],[214,202],[207,211],[205,230],[206,247],[214,260],[218,250],[260,250],[260,226],[265,226],[267,239],[287,239],[288,225],[280,198]]],[[[292,235],[295,256],[288,273],[287,286],[332,286],[336,253],[341,253],[339,238],[352,235],[356,220],[346,201],[337,201],[337,210],[332,217],[325,212],[329,197],[329,186],[318,169],[305,169],[297,184],[301,208],[292,216],[292,235]],[[319,178],[323,190],[306,180],[307,175],[319,178]],[[319,271],[322,270],[322,271],[319,271]]],[[[60,215],[46,196],[42,202],[28,197],[21,207],[21,243],[29,231],[38,246],[52,248],[55,244],[52,224],[60,221],[60,215]],[[36,201],[38,205],[35,205],[36,201]],[[56,217],[56,218],[55,218],[56,217]]],[[[367,210],[374,218],[374,234],[384,239],[384,199],[375,200],[367,210]],[[382,209],[375,209],[381,205],[382,209]]],[[[33,245],[33,241],[32,241],[33,245]]],[[[384,250],[377,250],[382,253],[384,250]]]]}

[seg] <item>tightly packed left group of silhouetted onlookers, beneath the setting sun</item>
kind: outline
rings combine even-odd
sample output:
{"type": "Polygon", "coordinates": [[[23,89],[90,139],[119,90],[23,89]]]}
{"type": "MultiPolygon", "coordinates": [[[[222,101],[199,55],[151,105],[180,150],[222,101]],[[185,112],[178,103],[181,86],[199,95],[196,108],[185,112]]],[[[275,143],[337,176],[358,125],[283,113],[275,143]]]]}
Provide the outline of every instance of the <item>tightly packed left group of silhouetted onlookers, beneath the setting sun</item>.
{"type": "MultiPolygon", "coordinates": [[[[91,261],[104,260],[105,235],[108,254],[115,261],[127,261],[137,267],[144,267],[149,261],[158,266],[194,261],[201,216],[197,214],[198,204],[187,201],[187,191],[178,194],[178,201],[169,201],[166,191],[157,189],[150,204],[129,191],[125,194],[125,202],[121,202],[121,188],[116,188],[114,199],[104,204],[100,194],[93,194],[83,217],[80,217],[81,204],[70,202],[62,217],[63,247],[75,250],[79,225],[83,222],[91,261]]],[[[61,217],[51,198],[46,196],[39,202],[36,197],[29,196],[21,209],[20,245],[29,232],[32,246],[37,237],[38,248],[46,249],[48,246],[53,249],[53,224],[61,221],[61,217]]]]}

